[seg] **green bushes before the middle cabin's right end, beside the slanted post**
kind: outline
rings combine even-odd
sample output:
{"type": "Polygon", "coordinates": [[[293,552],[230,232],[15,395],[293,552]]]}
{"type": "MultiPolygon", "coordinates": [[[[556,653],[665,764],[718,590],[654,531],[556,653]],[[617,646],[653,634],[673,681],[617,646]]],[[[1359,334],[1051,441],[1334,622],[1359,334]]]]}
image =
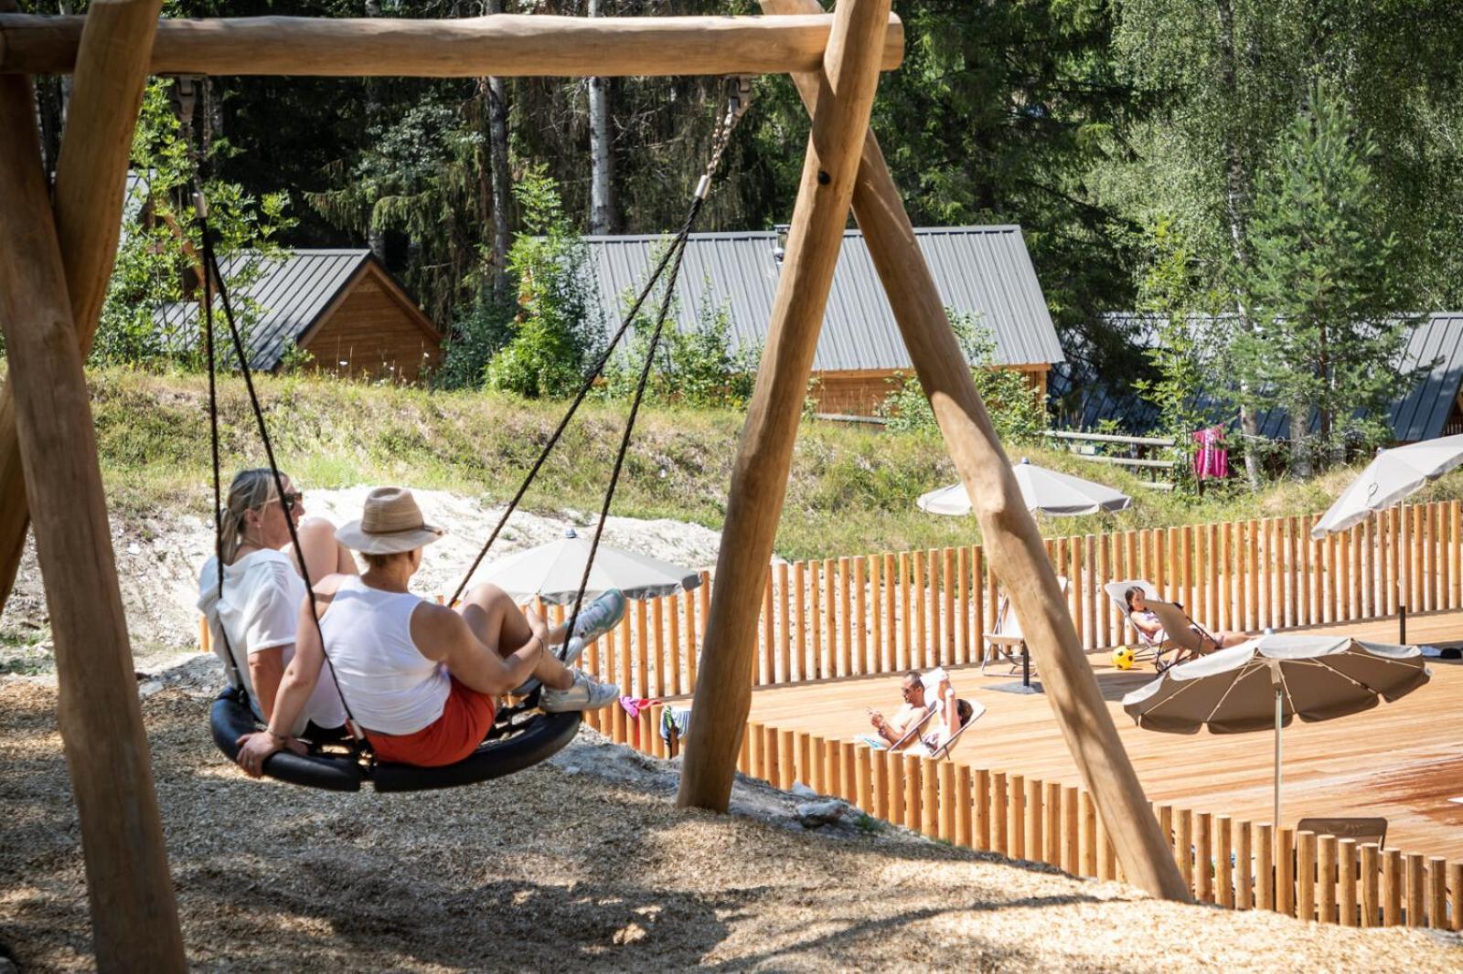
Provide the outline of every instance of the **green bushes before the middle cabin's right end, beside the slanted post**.
{"type": "MultiPolygon", "coordinates": [[[[1033,445],[1042,440],[1042,433],[1050,426],[1042,392],[1014,369],[1002,369],[996,363],[996,344],[990,329],[976,323],[970,314],[947,309],[949,323],[955,329],[966,361],[971,364],[970,374],[976,382],[990,423],[1007,445],[1033,445]]],[[[936,430],[935,411],[925,398],[914,376],[897,376],[894,389],[879,407],[885,429],[894,433],[936,430]]]]}

